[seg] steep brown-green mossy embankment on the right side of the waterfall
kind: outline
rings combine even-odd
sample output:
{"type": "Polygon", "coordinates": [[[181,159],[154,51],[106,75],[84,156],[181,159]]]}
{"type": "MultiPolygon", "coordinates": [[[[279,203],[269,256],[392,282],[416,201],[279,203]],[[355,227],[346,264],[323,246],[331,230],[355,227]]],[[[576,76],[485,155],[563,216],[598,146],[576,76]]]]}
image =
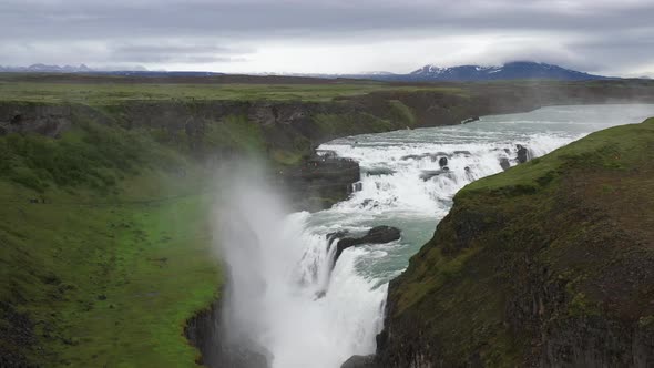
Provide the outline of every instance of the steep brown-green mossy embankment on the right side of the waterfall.
{"type": "Polygon", "coordinates": [[[654,120],[480,180],[389,287],[375,367],[654,365],[654,120]]]}

